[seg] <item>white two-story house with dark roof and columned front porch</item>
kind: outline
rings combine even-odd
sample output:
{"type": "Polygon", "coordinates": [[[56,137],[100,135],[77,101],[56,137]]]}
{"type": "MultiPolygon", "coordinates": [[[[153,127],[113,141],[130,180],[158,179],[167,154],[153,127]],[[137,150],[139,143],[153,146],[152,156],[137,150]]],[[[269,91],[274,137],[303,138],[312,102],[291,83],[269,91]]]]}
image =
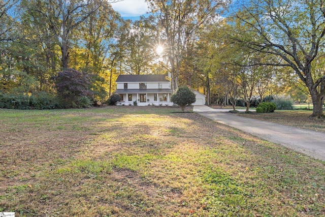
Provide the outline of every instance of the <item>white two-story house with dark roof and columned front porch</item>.
{"type": "Polygon", "coordinates": [[[115,94],[120,95],[117,105],[172,106],[171,82],[166,75],[119,75],[116,79],[115,94]]]}

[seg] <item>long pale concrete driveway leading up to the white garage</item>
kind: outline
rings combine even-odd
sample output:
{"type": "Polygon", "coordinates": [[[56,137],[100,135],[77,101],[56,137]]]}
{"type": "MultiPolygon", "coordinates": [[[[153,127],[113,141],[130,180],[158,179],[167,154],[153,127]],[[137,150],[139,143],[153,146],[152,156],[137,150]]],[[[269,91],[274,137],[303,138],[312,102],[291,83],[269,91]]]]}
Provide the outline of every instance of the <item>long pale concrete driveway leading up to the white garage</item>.
{"type": "Polygon", "coordinates": [[[241,117],[234,113],[228,113],[229,109],[212,109],[208,106],[194,106],[193,111],[245,133],[325,161],[325,133],[241,117]]]}

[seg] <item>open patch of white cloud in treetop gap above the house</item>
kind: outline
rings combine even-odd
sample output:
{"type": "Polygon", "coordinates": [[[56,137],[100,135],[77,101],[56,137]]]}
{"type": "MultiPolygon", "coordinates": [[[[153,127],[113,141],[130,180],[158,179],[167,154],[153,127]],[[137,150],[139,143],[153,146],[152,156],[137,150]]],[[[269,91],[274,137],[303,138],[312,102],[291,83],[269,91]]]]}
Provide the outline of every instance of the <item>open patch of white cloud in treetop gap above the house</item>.
{"type": "Polygon", "coordinates": [[[122,17],[140,16],[148,11],[148,5],[145,0],[123,0],[111,5],[122,17]]]}

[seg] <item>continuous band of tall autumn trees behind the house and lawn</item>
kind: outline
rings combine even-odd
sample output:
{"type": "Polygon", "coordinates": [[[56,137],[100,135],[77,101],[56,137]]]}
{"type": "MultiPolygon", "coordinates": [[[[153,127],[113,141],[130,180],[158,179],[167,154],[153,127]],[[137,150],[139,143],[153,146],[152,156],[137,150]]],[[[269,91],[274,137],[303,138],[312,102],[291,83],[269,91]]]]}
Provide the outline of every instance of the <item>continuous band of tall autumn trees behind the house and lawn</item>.
{"type": "Polygon", "coordinates": [[[1,1],[0,92],[55,96],[50,78],[71,68],[104,102],[119,74],[170,73],[173,91],[189,85],[208,105],[290,94],[323,115],[323,1],[147,0],[136,21],[113,2],[1,1]]]}

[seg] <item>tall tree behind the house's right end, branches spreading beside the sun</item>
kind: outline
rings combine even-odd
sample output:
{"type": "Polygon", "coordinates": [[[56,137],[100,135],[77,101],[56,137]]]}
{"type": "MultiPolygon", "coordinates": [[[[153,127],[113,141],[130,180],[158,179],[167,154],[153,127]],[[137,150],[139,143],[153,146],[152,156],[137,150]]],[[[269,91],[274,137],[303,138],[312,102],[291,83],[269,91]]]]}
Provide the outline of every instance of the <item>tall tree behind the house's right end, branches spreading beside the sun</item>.
{"type": "Polygon", "coordinates": [[[217,10],[225,6],[224,0],[146,0],[157,16],[160,37],[166,40],[172,89],[178,87],[178,76],[190,36],[205,23],[218,17],[217,10]]]}

